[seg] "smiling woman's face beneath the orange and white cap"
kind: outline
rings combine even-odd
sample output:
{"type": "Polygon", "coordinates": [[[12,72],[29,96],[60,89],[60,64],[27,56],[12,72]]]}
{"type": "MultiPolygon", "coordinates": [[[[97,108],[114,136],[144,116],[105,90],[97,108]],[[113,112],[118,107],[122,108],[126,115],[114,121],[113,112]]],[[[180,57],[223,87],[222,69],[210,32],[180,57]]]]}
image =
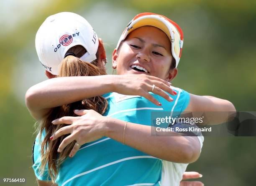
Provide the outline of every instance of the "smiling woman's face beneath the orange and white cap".
{"type": "Polygon", "coordinates": [[[133,30],[118,51],[113,52],[113,68],[118,75],[147,74],[164,80],[172,80],[177,69],[172,63],[171,43],[167,35],[153,26],[133,30]]]}

